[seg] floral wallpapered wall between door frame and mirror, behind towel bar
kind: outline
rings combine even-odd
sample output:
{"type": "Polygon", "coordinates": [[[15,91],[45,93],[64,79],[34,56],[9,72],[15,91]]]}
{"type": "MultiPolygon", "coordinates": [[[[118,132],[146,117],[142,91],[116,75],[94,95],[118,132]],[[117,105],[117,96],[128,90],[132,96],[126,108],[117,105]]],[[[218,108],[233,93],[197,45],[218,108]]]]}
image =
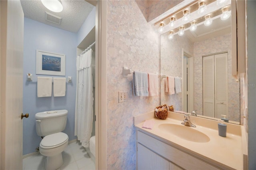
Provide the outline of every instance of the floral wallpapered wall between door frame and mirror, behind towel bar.
{"type": "Polygon", "coordinates": [[[124,78],[122,66],[160,73],[160,35],[133,0],[108,1],[107,30],[107,168],[135,170],[133,116],[154,110],[160,90],[156,97],[133,96],[132,75],[124,78]],[[118,103],[118,91],[128,92],[126,102],[118,103]]]}

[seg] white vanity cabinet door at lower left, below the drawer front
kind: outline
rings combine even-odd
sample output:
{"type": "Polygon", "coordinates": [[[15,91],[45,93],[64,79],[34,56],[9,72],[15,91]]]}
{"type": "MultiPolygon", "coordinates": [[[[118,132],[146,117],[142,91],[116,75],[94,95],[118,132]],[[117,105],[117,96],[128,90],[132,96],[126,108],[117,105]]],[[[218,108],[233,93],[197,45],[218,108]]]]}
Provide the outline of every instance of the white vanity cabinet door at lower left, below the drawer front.
{"type": "Polygon", "coordinates": [[[169,170],[169,161],[137,143],[138,170],[169,170]]]}

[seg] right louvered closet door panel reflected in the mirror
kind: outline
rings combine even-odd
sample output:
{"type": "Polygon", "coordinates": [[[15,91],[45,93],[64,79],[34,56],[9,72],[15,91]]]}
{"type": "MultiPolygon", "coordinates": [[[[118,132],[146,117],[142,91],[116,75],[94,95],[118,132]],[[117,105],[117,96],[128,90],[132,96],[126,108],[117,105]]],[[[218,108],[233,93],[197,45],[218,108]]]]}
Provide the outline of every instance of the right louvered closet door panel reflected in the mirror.
{"type": "Polygon", "coordinates": [[[215,112],[217,118],[228,113],[228,53],[214,55],[215,112]]]}

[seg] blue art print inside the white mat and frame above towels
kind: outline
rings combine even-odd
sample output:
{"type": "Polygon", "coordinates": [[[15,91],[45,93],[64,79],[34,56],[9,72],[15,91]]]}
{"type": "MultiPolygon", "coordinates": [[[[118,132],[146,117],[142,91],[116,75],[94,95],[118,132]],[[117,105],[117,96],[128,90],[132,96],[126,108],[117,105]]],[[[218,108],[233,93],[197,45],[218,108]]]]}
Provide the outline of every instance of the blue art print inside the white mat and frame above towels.
{"type": "Polygon", "coordinates": [[[42,70],[60,71],[61,70],[60,61],[61,61],[60,57],[42,55],[42,70]]]}

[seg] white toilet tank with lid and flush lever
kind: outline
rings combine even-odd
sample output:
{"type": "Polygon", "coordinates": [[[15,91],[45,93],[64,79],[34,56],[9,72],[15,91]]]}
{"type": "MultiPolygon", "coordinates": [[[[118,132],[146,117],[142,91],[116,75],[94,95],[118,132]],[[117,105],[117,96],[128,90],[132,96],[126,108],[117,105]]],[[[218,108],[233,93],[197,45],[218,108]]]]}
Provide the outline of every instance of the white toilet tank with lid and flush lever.
{"type": "Polygon", "coordinates": [[[62,132],[67,124],[67,110],[36,113],[36,133],[38,136],[62,132]]]}

